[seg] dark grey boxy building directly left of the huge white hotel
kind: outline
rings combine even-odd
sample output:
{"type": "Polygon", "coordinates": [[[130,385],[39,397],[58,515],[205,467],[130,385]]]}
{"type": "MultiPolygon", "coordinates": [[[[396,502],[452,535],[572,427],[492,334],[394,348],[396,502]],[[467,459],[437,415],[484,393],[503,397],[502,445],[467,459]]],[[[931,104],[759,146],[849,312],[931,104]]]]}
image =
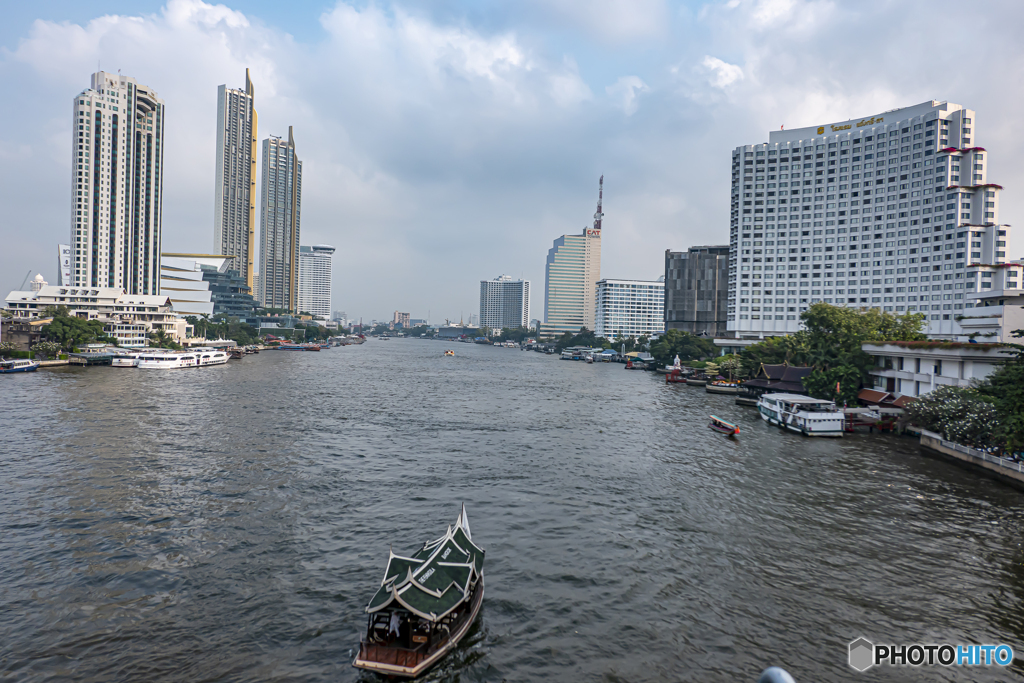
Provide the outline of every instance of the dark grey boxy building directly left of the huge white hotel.
{"type": "Polygon", "coordinates": [[[665,251],[665,329],[701,337],[726,333],[729,245],[665,251]]]}

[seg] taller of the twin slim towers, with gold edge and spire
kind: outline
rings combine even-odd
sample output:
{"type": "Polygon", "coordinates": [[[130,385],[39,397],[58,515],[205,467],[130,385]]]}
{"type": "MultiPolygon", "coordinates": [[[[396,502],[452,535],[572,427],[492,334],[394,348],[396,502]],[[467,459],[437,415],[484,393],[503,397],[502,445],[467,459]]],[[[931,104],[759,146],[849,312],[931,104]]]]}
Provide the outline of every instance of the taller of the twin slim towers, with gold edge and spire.
{"type": "MultiPolygon", "coordinates": [[[[217,88],[217,161],[213,206],[213,251],[229,256],[253,287],[256,254],[255,90],[246,70],[246,89],[217,88]]],[[[255,294],[255,290],[253,290],[255,294]]]]}

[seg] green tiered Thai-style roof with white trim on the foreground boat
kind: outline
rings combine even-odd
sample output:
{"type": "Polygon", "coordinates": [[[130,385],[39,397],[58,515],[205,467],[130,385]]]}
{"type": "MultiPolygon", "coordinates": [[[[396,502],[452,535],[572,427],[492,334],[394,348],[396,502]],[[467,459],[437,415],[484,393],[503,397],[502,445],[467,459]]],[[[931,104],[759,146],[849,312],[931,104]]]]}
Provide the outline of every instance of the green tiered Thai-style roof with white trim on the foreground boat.
{"type": "Polygon", "coordinates": [[[473,544],[463,506],[455,525],[441,538],[424,544],[412,557],[389,554],[381,587],[367,611],[401,607],[437,622],[469,599],[483,571],[483,554],[473,544]]]}

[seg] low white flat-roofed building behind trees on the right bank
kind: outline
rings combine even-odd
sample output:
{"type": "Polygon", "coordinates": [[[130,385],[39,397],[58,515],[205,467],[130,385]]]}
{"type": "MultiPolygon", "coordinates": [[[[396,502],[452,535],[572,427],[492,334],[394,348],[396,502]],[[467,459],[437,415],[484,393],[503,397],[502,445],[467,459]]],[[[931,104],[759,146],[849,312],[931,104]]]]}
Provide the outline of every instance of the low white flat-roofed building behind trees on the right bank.
{"type": "Polygon", "coordinates": [[[869,373],[874,388],[921,396],[941,385],[967,387],[991,375],[1012,351],[996,343],[883,342],[862,344],[874,356],[869,373]]]}

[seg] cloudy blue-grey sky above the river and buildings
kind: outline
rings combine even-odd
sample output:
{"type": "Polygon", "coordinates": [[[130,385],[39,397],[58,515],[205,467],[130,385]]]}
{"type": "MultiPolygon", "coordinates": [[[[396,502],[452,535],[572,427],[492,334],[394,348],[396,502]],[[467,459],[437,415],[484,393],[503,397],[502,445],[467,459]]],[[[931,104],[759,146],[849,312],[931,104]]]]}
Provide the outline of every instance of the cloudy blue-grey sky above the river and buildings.
{"type": "MultiPolygon", "coordinates": [[[[56,282],[72,101],[97,68],[166,102],[165,252],[213,250],[217,86],[295,130],[302,244],[337,248],[334,306],[468,319],[479,281],[531,281],[593,221],[601,274],[727,244],[732,150],[930,99],[976,111],[1000,222],[1024,210],[1024,3],[943,0],[239,0],[5,3],[0,289],[56,282]]],[[[257,205],[258,206],[258,205],[257,205]]],[[[1008,256],[1024,256],[1010,231],[1008,256]]]]}

